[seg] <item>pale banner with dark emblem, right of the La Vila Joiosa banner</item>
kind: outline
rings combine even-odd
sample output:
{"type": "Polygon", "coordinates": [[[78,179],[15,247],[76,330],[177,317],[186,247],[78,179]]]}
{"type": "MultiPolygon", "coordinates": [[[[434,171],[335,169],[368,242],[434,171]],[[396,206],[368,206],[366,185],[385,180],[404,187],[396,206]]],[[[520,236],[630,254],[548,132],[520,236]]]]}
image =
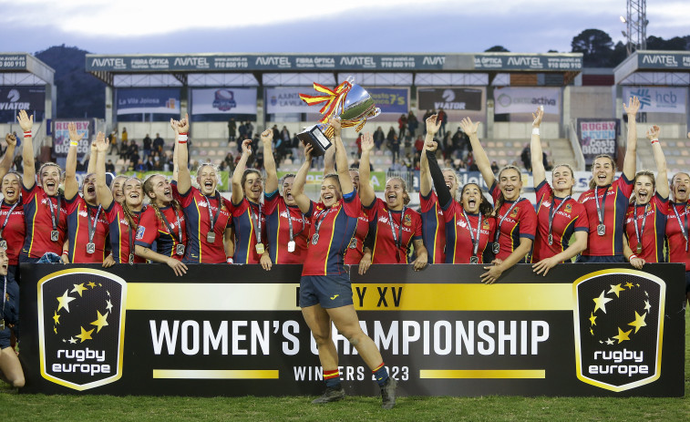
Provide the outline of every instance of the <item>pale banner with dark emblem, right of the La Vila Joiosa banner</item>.
{"type": "Polygon", "coordinates": [[[256,88],[192,89],[191,114],[256,114],[256,88]]]}

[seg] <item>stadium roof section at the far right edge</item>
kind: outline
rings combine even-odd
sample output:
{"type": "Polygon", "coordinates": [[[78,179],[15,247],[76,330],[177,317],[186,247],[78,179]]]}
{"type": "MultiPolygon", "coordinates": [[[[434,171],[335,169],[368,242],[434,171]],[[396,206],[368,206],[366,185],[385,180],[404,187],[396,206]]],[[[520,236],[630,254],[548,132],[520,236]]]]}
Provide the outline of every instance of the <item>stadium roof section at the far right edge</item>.
{"type": "Polygon", "coordinates": [[[613,69],[616,85],[690,85],[690,51],[635,51],[613,69]]]}

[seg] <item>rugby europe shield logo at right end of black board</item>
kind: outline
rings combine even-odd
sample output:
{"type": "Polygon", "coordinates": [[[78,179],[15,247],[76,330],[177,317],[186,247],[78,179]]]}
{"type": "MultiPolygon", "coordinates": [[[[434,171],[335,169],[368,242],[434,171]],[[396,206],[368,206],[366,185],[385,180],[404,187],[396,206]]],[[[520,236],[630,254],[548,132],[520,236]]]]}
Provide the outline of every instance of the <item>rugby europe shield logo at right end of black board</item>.
{"type": "Polygon", "coordinates": [[[661,376],[666,284],[649,273],[614,268],[572,284],[577,377],[620,392],[661,376]]]}

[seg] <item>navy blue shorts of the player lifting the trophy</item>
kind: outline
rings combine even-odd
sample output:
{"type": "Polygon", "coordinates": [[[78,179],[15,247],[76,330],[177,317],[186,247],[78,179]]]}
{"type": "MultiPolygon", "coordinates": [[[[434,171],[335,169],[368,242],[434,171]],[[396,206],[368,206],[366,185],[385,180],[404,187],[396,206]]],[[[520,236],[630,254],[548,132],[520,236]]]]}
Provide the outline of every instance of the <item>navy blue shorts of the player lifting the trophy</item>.
{"type": "Polygon", "coordinates": [[[321,304],[323,308],[354,304],[349,275],[303,275],[300,280],[300,307],[314,304],[321,304]]]}

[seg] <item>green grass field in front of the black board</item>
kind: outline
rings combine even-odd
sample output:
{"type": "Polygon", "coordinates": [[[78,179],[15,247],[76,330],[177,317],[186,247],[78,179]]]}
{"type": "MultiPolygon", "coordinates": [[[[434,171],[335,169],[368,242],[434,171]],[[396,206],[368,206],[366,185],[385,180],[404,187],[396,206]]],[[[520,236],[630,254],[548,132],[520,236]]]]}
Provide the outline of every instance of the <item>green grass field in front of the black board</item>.
{"type": "Polygon", "coordinates": [[[685,397],[401,397],[348,396],[314,406],[314,397],[149,397],[20,395],[0,382],[0,410],[11,421],[148,420],[471,420],[690,421],[690,313],[685,314],[685,397]]]}

